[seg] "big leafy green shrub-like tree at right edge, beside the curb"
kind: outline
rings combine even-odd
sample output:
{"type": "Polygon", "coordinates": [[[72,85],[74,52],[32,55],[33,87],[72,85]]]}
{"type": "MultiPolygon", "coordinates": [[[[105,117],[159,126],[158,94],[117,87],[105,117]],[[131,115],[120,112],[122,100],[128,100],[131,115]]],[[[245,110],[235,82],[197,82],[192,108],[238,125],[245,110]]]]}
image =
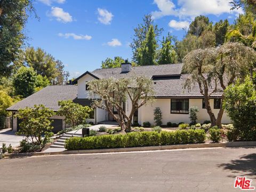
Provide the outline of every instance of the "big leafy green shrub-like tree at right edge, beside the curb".
{"type": "Polygon", "coordinates": [[[256,139],[256,91],[251,79],[237,80],[225,90],[223,107],[234,124],[234,140],[256,139]]]}

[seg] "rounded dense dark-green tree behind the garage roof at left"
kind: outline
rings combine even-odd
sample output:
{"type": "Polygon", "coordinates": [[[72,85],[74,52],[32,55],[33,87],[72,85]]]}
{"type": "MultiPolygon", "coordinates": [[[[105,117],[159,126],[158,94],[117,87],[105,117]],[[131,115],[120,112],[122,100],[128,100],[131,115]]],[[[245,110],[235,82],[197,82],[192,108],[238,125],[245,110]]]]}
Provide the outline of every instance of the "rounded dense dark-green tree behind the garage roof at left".
{"type": "Polygon", "coordinates": [[[21,67],[13,76],[13,87],[16,95],[23,98],[35,92],[37,74],[31,67],[21,67]]]}

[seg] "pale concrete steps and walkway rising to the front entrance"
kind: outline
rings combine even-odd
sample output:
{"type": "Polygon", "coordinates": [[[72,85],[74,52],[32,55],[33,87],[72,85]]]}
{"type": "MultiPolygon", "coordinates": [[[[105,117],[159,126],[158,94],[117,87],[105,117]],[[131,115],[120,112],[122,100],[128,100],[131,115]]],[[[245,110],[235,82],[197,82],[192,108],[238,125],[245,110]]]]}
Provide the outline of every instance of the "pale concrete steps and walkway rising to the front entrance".
{"type": "MultiPolygon", "coordinates": [[[[113,125],[110,125],[110,124],[105,124],[105,125],[104,125],[104,124],[99,124],[99,125],[90,126],[89,128],[90,128],[90,130],[98,131],[100,126],[106,126],[107,128],[110,128],[110,127],[114,127],[114,126],[117,126],[117,125],[114,125],[114,124],[113,124],[113,125]]],[[[58,139],[57,142],[54,142],[53,145],[52,145],[50,148],[44,150],[44,152],[65,151],[66,149],[63,147],[65,140],[63,140],[62,138],[66,138],[65,136],[70,135],[70,134],[74,134],[74,133],[75,133],[74,137],[82,137],[82,129],[67,132],[67,133],[64,135],[64,137],[61,137],[61,136],[60,136],[61,138],[58,139]],[[60,140],[61,140],[61,143],[59,142],[60,140]],[[58,148],[55,148],[54,145],[57,145],[57,143],[59,143],[60,145],[62,145],[61,148],[59,148],[59,146],[56,146],[56,147],[58,147],[58,148]]],[[[70,135],[69,137],[71,137],[71,135],[70,135]]],[[[68,138],[66,138],[66,139],[68,139],[68,138]]]]}

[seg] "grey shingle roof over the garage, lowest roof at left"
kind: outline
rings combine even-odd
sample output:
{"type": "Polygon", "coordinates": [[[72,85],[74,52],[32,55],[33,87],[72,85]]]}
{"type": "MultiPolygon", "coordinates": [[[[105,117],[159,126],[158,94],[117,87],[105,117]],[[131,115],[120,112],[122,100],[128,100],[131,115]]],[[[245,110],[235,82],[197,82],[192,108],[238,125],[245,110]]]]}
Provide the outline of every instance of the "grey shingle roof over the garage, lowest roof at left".
{"type": "Polygon", "coordinates": [[[22,101],[15,103],[7,110],[16,111],[18,109],[31,107],[34,105],[44,105],[45,107],[54,111],[59,110],[58,101],[61,100],[74,100],[77,98],[77,86],[76,85],[50,85],[44,87],[44,89],[30,95],[22,101]]]}

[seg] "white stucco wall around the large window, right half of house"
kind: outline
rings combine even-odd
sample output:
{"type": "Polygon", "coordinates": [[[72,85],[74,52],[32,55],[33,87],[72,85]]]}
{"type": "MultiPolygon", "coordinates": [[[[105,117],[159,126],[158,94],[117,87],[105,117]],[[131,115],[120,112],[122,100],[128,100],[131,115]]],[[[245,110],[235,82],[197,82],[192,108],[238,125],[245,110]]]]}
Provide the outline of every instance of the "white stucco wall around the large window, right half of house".
{"type": "MultiPolygon", "coordinates": [[[[219,112],[219,109],[213,109],[213,99],[210,99],[210,105],[212,107],[215,117],[219,112]]],[[[203,123],[205,120],[210,120],[209,115],[207,114],[206,109],[202,108],[202,99],[189,99],[189,108],[197,106],[199,112],[197,113],[197,122],[203,123]]],[[[171,99],[156,99],[156,101],[147,106],[142,106],[139,109],[139,123],[150,122],[154,125],[154,109],[159,107],[163,115],[163,125],[166,125],[167,122],[172,123],[190,123],[189,114],[171,114],[171,99]]],[[[224,113],[222,116],[222,123],[230,123],[230,119],[227,117],[227,114],[224,113]]]]}

